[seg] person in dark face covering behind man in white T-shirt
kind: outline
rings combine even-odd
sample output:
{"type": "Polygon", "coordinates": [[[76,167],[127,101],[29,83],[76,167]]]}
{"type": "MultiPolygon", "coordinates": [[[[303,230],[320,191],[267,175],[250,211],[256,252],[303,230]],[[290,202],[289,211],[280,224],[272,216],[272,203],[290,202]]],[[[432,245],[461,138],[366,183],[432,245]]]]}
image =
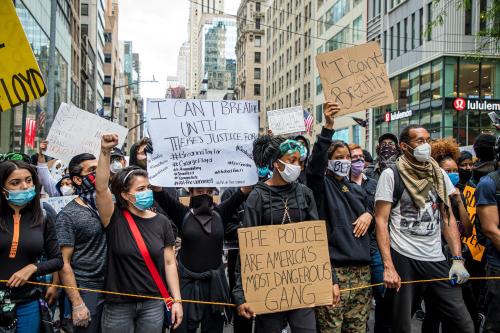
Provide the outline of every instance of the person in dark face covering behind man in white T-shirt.
{"type": "Polygon", "coordinates": [[[368,178],[378,180],[382,171],[393,165],[401,151],[398,147],[398,138],[392,133],[382,134],[378,138],[377,163],[369,165],[365,170],[368,178]]]}

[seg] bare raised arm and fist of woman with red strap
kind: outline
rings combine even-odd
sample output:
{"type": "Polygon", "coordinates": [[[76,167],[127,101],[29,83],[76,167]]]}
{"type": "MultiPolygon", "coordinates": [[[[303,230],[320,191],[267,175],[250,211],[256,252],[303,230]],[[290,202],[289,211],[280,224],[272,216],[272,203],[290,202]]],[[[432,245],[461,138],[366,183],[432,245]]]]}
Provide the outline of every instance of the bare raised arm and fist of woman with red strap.
{"type": "Polygon", "coordinates": [[[113,215],[115,205],[109,190],[109,164],[111,149],[118,145],[117,134],[104,134],[101,138],[101,154],[96,170],[96,203],[104,227],[107,227],[113,215]]]}

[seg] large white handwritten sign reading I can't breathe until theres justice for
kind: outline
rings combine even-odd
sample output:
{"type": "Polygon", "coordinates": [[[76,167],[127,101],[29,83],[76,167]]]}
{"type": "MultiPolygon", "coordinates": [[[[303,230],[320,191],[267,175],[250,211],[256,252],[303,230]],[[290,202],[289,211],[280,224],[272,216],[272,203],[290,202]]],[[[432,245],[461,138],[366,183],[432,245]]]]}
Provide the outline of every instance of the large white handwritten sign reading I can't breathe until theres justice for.
{"type": "Polygon", "coordinates": [[[149,180],[165,187],[253,185],[257,101],[148,99],[149,180]]]}

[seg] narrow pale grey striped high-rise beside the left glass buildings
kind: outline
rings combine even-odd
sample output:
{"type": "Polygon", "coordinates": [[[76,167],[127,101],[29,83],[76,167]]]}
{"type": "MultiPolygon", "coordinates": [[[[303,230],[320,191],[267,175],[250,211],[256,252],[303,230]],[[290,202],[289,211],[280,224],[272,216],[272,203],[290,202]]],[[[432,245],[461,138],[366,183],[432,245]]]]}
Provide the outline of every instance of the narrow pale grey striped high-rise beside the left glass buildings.
{"type": "MultiPolygon", "coordinates": [[[[80,0],[81,47],[85,47],[85,109],[96,112],[104,98],[104,24],[105,0],[80,0]]],[[[83,76],[82,76],[83,77],[83,76]]]]}

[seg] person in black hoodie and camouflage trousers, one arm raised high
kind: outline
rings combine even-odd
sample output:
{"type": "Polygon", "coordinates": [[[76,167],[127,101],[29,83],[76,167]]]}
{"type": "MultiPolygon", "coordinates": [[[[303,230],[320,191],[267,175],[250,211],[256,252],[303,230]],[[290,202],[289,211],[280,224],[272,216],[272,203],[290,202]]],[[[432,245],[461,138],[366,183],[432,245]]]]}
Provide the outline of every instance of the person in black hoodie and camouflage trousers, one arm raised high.
{"type": "Polygon", "coordinates": [[[372,212],[366,194],[349,181],[351,153],[345,142],[332,141],[336,103],[326,102],[326,123],[314,145],[307,167],[307,185],[313,190],[320,219],[326,220],[333,276],[333,307],[316,309],[321,332],[365,332],[371,307],[371,289],[340,295],[340,288],[369,285],[372,212]],[[340,304],[339,304],[340,302],[340,304]]]}

